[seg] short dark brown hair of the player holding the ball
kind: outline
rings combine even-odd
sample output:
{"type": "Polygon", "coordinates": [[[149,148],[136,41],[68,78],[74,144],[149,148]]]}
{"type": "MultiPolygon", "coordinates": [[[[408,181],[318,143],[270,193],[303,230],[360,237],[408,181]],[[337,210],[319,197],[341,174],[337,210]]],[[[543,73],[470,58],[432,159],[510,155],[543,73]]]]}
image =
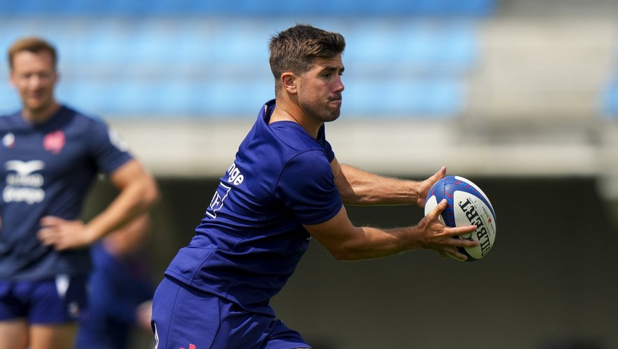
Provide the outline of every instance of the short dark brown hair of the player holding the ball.
{"type": "Polygon", "coordinates": [[[311,27],[309,24],[296,24],[270,38],[270,70],[274,75],[278,90],[279,77],[286,71],[302,74],[311,69],[316,57],[332,58],[344,52],[344,36],[332,31],[311,27]]]}

